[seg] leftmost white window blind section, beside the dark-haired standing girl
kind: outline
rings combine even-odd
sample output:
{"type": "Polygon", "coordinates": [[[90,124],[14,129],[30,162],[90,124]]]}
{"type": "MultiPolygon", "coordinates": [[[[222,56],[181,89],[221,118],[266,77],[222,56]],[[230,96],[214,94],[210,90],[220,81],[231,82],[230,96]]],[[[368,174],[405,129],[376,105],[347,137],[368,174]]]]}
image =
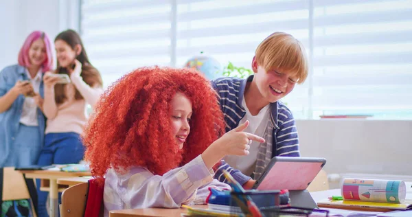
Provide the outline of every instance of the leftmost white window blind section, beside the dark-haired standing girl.
{"type": "Polygon", "coordinates": [[[128,71],[170,65],[171,1],[82,1],[81,34],[104,86],[128,71]]]}

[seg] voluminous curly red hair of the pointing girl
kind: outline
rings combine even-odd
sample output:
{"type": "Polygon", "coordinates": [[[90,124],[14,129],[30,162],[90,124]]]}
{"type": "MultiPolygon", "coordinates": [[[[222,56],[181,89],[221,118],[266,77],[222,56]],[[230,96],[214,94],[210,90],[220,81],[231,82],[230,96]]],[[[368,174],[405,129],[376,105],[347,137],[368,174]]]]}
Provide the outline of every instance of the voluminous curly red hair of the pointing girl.
{"type": "Polygon", "coordinates": [[[86,127],[83,142],[91,173],[99,179],[108,168],[148,168],[153,174],[183,165],[225,133],[216,92],[193,69],[144,67],[108,88],[86,127]],[[172,135],[170,110],[175,93],[192,102],[190,135],[179,149],[172,135]]]}

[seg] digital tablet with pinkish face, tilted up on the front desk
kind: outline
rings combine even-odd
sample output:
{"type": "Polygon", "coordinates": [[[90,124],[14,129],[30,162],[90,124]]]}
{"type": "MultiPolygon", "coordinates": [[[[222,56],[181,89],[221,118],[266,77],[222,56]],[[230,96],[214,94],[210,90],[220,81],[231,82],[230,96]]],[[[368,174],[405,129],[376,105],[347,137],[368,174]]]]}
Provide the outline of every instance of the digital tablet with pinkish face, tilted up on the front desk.
{"type": "Polygon", "coordinates": [[[273,157],[253,189],[306,190],[325,163],[319,157],[273,157]]]}

